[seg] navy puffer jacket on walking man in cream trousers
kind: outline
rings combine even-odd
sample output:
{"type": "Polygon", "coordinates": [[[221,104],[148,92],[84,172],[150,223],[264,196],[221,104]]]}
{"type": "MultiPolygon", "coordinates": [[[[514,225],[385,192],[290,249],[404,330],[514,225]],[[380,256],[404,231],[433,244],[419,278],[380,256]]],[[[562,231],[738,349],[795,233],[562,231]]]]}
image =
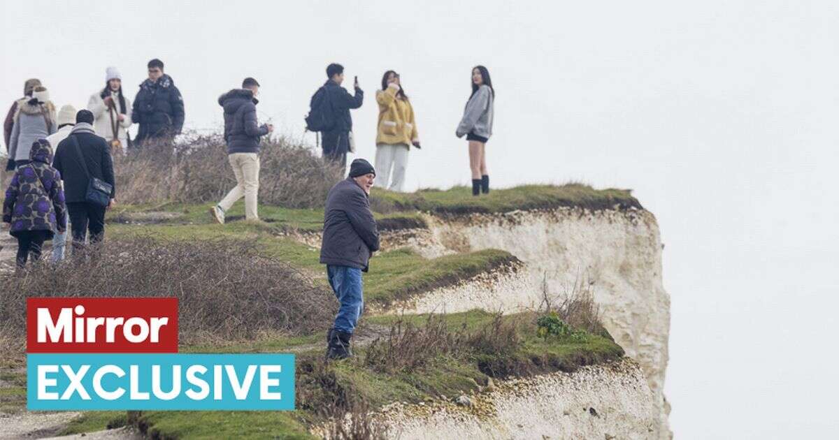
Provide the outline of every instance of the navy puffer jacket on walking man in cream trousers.
{"type": "Polygon", "coordinates": [[[257,122],[257,101],[253,91],[233,89],[218,98],[224,108],[224,140],[227,154],[259,153],[259,137],[268,134],[268,127],[257,122]]]}

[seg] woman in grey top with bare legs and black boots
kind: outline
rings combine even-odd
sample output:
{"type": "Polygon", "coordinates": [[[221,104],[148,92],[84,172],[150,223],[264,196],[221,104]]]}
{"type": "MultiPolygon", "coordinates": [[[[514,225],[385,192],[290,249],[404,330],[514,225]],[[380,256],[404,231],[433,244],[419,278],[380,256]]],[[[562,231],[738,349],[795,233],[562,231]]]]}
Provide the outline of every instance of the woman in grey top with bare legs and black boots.
{"type": "Polygon", "coordinates": [[[472,96],[466,102],[463,118],[457,126],[457,137],[469,141],[469,168],[472,168],[472,195],[489,192],[486,144],[492,136],[492,108],[495,89],[489,70],[482,65],[472,69],[472,96]]]}

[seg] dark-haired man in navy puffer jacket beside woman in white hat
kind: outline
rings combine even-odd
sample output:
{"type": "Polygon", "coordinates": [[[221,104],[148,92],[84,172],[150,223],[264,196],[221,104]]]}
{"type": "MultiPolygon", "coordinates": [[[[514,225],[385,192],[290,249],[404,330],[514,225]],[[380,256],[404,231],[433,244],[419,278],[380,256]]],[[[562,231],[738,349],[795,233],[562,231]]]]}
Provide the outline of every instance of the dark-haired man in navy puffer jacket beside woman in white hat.
{"type": "Polygon", "coordinates": [[[163,73],[163,61],[149,61],[149,79],[140,84],[131,113],[140,125],[136,144],[180,134],[184,127],[184,99],[172,77],[163,73]]]}

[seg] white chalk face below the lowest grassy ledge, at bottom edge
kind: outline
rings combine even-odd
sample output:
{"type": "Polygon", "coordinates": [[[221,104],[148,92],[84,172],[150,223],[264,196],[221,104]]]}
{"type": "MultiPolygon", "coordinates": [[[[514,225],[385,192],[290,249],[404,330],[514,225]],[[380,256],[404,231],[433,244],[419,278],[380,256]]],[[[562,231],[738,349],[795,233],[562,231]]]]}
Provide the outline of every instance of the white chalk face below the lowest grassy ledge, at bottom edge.
{"type": "Polygon", "coordinates": [[[659,409],[633,360],[503,380],[472,405],[395,403],[375,417],[388,438],[660,437],[659,409]]]}

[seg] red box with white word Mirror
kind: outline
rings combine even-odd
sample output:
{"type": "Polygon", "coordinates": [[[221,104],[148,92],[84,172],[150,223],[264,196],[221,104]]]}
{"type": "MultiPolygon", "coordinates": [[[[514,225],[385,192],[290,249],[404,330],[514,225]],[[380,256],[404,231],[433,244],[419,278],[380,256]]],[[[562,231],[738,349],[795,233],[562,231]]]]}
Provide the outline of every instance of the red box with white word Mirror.
{"type": "Polygon", "coordinates": [[[28,353],[177,353],[178,298],[28,298],[28,353]]]}

